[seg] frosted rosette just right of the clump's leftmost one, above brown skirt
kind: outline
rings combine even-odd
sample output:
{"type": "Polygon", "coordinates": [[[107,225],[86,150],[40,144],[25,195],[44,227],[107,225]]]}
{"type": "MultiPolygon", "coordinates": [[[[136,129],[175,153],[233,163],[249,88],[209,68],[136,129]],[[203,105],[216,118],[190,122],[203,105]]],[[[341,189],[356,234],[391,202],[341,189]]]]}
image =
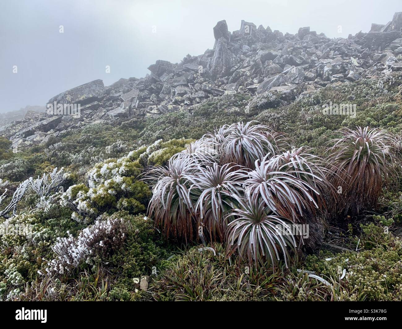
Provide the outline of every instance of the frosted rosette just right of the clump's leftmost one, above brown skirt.
{"type": "Polygon", "coordinates": [[[190,178],[199,225],[205,227],[211,240],[223,241],[229,221],[226,215],[237,205],[233,195],[243,194],[245,174],[239,166],[213,163],[210,167],[199,166],[197,174],[190,178]]]}

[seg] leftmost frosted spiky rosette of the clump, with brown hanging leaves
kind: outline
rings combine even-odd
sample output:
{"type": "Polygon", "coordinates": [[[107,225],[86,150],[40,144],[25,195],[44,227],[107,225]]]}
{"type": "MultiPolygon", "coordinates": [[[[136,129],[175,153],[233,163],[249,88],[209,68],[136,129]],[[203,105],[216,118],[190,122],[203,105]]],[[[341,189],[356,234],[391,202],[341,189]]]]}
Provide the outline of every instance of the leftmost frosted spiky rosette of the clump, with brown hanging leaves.
{"type": "Polygon", "coordinates": [[[168,166],[155,166],[148,173],[153,185],[148,213],[166,237],[186,242],[193,237],[194,204],[189,188],[196,170],[195,161],[172,157],[168,166]]]}

